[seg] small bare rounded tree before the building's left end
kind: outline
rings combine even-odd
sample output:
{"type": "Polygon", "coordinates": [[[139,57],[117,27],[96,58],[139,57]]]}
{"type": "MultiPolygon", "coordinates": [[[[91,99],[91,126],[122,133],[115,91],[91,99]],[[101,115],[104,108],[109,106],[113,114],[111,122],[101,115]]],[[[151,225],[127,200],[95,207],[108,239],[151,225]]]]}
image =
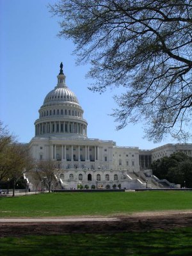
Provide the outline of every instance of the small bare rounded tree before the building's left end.
{"type": "Polygon", "coordinates": [[[41,160],[37,164],[36,175],[38,175],[42,185],[47,185],[49,193],[51,191],[51,184],[56,179],[55,177],[58,171],[58,163],[56,161],[52,161],[51,159],[41,160]]]}

